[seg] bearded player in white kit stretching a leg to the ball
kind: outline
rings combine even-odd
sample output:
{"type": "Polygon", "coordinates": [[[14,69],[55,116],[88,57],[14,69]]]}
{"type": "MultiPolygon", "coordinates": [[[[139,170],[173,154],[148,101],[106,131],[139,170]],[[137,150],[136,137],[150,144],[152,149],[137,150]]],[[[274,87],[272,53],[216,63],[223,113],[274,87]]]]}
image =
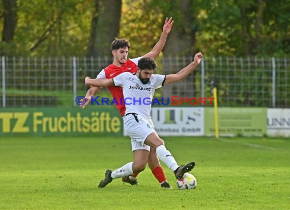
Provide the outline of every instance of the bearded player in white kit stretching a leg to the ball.
{"type": "Polygon", "coordinates": [[[202,54],[198,52],[195,54],[193,62],[175,74],[153,74],[157,67],[154,59],[143,57],[138,61],[136,74],[124,72],[112,79],[85,78],[86,86],[108,87],[114,85],[123,87],[124,102],[126,104],[125,117],[123,117],[125,131],[131,138],[133,150],[134,147],[139,145],[145,146],[139,159],[135,159],[134,162],[127,163],[114,171],[107,169],[105,178],[98,185],[99,188],[105,187],[115,178],[144,170],[146,163],[142,164],[140,160],[148,159],[150,147],[155,149],[158,158],[175,173],[177,179],[180,179],[184,173],[193,169],[195,162],[179,166],[172,154],[165,148],[164,141],[157,135],[149,120],[151,103],[144,102],[144,99],[152,101],[155,89],[183,80],[199,65],[201,58],[202,54]],[[126,101],[126,98],[132,99],[133,102],[126,101]]]}

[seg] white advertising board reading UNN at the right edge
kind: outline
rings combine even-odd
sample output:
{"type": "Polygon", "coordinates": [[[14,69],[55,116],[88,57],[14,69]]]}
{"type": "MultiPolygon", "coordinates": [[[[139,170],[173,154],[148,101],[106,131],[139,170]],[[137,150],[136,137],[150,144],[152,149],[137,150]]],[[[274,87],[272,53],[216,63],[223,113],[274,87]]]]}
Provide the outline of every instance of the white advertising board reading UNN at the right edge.
{"type": "Polygon", "coordinates": [[[290,137],[290,109],[267,110],[267,135],[290,137]]]}

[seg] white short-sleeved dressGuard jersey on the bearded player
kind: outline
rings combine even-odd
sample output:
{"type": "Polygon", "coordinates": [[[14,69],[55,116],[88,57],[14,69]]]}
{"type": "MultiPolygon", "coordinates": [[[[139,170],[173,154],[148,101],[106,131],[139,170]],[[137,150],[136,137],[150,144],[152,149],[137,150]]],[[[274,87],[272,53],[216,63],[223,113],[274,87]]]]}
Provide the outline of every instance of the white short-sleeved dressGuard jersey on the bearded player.
{"type": "Polygon", "coordinates": [[[124,72],[113,77],[115,86],[123,87],[126,113],[136,113],[138,117],[149,120],[151,112],[151,101],[155,89],[163,86],[165,75],[152,74],[149,82],[143,84],[140,79],[130,72],[124,72]]]}

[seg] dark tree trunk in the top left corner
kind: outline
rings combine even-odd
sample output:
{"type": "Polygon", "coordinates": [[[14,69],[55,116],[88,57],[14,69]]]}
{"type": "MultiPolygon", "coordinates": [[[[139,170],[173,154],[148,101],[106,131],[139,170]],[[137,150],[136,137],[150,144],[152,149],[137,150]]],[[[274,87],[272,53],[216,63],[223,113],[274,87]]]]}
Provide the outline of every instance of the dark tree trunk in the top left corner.
{"type": "Polygon", "coordinates": [[[17,0],[2,0],[4,5],[4,27],[2,41],[11,42],[13,40],[17,24],[17,0]]]}

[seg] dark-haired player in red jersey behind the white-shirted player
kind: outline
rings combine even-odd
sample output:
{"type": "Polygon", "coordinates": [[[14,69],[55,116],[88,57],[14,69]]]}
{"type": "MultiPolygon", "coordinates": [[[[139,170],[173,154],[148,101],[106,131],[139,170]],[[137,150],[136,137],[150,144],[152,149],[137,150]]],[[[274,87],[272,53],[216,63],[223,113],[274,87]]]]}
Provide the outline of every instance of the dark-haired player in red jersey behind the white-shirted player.
{"type": "MultiPolygon", "coordinates": [[[[162,30],[162,33],[158,42],[156,43],[156,45],[152,48],[150,52],[148,52],[146,55],[142,57],[151,57],[155,59],[159,56],[166,42],[167,35],[171,31],[173,22],[174,21],[172,20],[171,17],[169,20],[166,17],[163,30],[162,30]]],[[[138,61],[142,57],[127,60],[129,49],[130,49],[130,43],[128,40],[115,39],[111,43],[113,63],[107,66],[106,68],[104,68],[98,74],[97,78],[113,78],[123,72],[131,72],[131,73],[137,72],[137,64],[138,64],[138,61]]],[[[95,86],[91,87],[85,95],[86,102],[82,104],[81,107],[85,108],[85,106],[91,101],[91,96],[95,96],[100,91],[100,89],[101,89],[100,87],[95,87],[95,86]]],[[[113,98],[117,100],[117,103],[115,103],[115,105],[117,109],[119,110],[121,116],[123,117],[125,114],[126,108],[125,108],[125,103],[124,102],[121,103],[121,100],[124,98],[122,87],[110,86],[108,87],[108,89],[111,92],[113,98]]],[[[148,160],[141,160],[141,157],[143,156],[142,154],[143,152],[148,152],[148,151],[144,150],[142,148],[142,145],[140,146],[140,148],[134,148],[133,150],[134,160],[138,159],[139,160],[138,163],[145,162],[145,164],[144,163],[140,164],[140,167],[143,167],[144,165],[146,165],[146,162],[148,161],[148,166],[151,169],[154,176],[156,177],[156,179],[159,181],[161,187],[171,188],[171,186],[166,180],[166,176],[160,165],[156,151],[152,148],[150,149],[148,160]]],[[[135,167],[138,167],[138,166],[135,166],[135,167]]],[[[138,184],[138,181],[136,179],[137,175],[138,173],[134,173],[130,176],[123,177],[122,180],[124,182],[130,183],[131,185],[137,185],[138,184]]]]}

